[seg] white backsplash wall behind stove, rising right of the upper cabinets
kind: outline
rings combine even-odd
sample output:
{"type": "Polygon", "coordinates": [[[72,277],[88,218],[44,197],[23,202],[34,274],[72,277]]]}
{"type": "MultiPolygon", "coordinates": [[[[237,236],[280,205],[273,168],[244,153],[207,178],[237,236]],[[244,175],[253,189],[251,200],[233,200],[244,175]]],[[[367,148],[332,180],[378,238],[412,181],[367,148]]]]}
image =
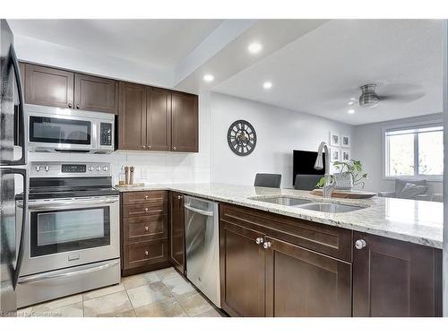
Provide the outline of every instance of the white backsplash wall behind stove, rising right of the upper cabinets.
{"type": "Polygon", "coordinates": [[[116,151],[112,154],[30,152],[28,161],[111,162],[114,184],[121,166],[135,167],[135,182],[206,183],[210,182],[210,94],[201,92],[199,100],[199,152],[116,151]]]}

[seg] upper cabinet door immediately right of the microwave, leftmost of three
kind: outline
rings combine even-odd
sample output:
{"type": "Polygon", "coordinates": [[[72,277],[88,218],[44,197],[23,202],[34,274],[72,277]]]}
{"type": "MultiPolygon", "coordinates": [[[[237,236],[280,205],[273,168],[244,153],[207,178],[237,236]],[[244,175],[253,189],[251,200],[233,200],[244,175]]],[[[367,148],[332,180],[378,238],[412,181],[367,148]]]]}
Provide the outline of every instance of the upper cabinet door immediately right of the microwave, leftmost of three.
{"type": "Polygon", "coordinates": [[[118,149],[146,150],[146,87],[120,82],[118,149]]]}

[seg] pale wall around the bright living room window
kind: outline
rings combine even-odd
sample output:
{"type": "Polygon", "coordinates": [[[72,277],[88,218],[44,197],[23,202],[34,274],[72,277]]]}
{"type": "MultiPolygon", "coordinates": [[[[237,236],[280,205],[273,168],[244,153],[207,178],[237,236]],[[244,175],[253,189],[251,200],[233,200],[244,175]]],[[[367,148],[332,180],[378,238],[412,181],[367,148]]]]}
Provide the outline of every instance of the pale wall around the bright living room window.
{"type": "MultiPolygon", "coordinates": [[[[352,157],[362,160],[364,170],[369,175],[366,181],[366,190],[374,192],[395,190],[393,179],[383,179],[383,128],[393,125],[441,121],[442,119],[442,114],[434,114],[354,126],[352,157]]],[[[428,193],[442,193],[442,186],[442,182],[429,182],[428,193]]]]}

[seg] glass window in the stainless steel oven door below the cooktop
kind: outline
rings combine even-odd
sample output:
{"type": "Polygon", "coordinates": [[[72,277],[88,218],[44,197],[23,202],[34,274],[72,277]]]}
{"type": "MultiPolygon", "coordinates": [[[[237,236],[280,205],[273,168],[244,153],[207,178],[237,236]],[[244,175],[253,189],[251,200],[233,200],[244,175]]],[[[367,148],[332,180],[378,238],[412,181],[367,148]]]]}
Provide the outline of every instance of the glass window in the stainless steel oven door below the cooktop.
{"type": "Polygon", "coordinates": [[[110,245],[109,207],[32,211],[31,257],[110,245]]]}

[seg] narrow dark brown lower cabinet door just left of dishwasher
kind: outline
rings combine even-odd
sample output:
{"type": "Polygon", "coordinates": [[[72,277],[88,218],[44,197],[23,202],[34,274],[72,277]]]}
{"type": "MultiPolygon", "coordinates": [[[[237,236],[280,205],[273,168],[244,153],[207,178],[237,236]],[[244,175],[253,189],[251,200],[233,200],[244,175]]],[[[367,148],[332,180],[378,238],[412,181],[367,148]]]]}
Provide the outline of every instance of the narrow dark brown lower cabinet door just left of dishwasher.
{"type": "Polygon", "coordinates": [[[169,194],[169,256],[180,272],[185,272],[184,195],[169,194]]]}

